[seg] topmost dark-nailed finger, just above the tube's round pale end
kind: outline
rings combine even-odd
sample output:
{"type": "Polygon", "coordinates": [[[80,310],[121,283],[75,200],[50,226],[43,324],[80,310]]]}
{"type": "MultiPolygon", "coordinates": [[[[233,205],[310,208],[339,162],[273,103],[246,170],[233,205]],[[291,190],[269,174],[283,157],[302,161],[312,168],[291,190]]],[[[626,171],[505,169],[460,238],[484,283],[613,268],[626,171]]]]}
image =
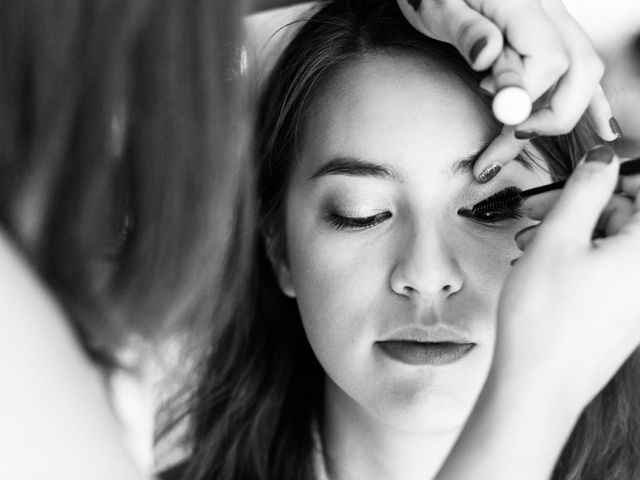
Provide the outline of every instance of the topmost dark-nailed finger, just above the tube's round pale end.
{"type": "Polygon", "coordinates": [[[464,0],[398,0],[409,23],[428,37],[450,43],[474,70],[486,70],[502,52],[501,30],[464,0]]]}

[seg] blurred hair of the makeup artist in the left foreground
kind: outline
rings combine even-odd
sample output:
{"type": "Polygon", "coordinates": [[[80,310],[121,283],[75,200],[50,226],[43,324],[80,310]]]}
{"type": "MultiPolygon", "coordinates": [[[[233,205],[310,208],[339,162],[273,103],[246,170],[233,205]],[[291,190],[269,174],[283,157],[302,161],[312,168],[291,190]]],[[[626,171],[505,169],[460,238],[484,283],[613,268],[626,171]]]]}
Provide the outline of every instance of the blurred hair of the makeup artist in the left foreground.
{"type": "Polygon", "coordinates": [[[0,222],[105,365],[244,282],[240,3],[0,7],[0,222]]]}

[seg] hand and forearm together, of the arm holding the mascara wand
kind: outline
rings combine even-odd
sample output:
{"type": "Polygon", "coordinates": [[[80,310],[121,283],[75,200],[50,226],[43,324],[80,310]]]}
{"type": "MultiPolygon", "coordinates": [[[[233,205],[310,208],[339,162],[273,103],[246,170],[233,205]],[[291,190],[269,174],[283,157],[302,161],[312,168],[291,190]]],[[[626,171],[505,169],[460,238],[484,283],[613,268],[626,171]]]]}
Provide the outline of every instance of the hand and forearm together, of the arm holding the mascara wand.
{"type": "Polygon", "coordinates": [[[542,223],[517,235],[491,370],[436,480],[551,478],[584,407],[640,343],[640,175],[619,180],[608,146],[585,160],[559,195],[525,203],[542,223]],[[609,235],[593,241],[598,224],[609,235]]]}

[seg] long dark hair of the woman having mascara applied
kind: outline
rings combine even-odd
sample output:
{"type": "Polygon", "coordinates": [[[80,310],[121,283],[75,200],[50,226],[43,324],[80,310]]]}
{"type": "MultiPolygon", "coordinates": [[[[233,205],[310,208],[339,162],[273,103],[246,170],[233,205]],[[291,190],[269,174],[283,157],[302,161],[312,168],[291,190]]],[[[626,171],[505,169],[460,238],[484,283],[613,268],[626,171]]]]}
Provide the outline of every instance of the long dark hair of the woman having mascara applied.
{"type": "MultiPolygon", "coordinates": [[[[376,51],[436,58],[477,91],[478,98],[489,102],[477,87],[481,74],[473,72],[451,46],[410,27],[394,0],[324,3],[282,54],[260,101],[259,213],[269,242],[277,242],[283,229],[284,192],[314,96],[336,69],[376,51]]],[[[569,135],[534,141],[556,178],[567,176],[594,143],[587,120],[569,135]]],[[[189,479],[314,476],[312,431],[322,415],[323,372],[295,302],[278,291],[264,245],[258,249],[253,285],[258,304],[252,312],[239,312],[214,345],[194,397],[189,479]]],[[[633,403],[637,386],[632,368],[626,365],[587,408],[555,478],[631,479],[637,471],[640,443],[634,439],[640,423],[633,403]]]]}

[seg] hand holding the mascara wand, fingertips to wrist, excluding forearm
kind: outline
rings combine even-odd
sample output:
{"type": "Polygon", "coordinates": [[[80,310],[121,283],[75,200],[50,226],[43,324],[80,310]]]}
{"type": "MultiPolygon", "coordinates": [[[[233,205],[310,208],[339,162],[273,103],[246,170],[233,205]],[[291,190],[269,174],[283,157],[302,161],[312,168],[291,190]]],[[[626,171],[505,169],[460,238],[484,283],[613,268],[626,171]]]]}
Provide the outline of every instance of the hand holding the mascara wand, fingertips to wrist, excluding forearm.
{"type": "Polygon", "coordinates": [[[525,253],[500,299],[498,376],[580,409],[640,343],[640,175],[618,180],[618,165],[597,147],[560,195],[525,203],[543,221],[517,235],[525,253]],[[594,229],[605,236],[592,240],[594,229]]]}

